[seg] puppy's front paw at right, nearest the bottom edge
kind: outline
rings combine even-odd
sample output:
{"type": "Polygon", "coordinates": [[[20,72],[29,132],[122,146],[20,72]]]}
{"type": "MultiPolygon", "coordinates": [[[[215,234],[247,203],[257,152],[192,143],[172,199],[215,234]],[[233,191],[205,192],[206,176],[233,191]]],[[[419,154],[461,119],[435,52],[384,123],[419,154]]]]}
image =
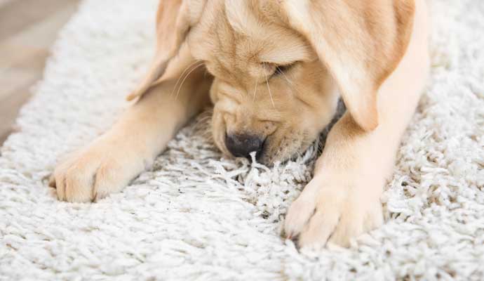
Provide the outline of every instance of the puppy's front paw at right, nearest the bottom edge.
{"type": "Polygon", "coordinates": [[[298,237],[300,247],[321,249],[327,242],[349,247],[352,238],[383,223],[377,189],[381,188],[315,178],[290,206],[285,235],[298,237]]]}

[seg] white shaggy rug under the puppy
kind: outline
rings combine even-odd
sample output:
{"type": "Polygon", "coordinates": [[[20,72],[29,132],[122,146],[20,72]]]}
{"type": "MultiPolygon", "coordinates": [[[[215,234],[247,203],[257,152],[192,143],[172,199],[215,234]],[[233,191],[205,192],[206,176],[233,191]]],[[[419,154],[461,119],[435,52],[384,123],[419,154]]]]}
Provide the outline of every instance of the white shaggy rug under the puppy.
{"type": "Polygon", "coordinates": [[[1,148],[0,280],[483,280],[484,2],[429,4],[431,79],[382,197],[386,224],[351,249],[300,253],[279,233],[314,148],[250,166],[221,158],[203,118],[123,192],[55,199],[56,159],[114,122],[154,51],[157,0],[83,1],[1,148]]]}

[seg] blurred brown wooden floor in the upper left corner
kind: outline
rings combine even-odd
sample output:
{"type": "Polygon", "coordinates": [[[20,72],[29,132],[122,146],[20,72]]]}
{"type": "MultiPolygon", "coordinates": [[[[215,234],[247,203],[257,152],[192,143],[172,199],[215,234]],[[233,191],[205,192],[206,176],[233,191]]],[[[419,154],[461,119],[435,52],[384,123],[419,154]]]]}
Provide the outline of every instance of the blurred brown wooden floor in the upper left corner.
{"type": "Polygon", "coordinates": [[[0,0],[0,146],[79,0],[0,0]]]}

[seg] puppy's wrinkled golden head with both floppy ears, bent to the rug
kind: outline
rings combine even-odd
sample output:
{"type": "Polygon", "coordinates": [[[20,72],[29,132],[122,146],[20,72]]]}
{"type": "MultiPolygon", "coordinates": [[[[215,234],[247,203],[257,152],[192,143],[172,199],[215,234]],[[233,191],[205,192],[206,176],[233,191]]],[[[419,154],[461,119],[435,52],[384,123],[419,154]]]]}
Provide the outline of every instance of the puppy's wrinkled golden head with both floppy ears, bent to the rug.
{"type": "Polygon", "coordinates": [[[288,159],[330,122],[340,94],[356,124],[375,129],[377,91],[405,53],[413,10],[413,0],[161,1],[156,59],[131,98],[186,42],[214,77],[220,150],[288,159]]]}

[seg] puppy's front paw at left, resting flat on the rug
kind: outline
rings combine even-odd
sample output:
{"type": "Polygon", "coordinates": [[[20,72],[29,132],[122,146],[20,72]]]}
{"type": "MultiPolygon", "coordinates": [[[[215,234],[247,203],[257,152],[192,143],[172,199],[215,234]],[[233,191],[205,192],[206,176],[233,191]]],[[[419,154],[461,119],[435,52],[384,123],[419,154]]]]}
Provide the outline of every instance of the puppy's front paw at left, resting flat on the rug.
{"type": "Polygon", "coordinates": [[[98,140],[61,162],[50,185],[59,200],[93,202],[124,188],[142,169],[140,155],[116,143],[98,140]]]}

